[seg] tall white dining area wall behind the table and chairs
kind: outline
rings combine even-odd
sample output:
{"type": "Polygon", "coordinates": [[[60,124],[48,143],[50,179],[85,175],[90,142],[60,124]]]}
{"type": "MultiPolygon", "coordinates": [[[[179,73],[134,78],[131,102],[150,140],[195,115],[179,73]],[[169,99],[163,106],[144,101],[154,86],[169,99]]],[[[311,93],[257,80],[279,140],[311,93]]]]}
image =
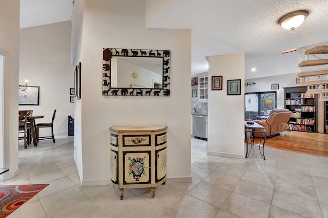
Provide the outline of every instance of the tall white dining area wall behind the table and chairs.
{"type": "MultiPolygon", "coordinates": [[[[74,88],[74,69],[71,66],[71,21],[20,30],[19,84],[25,79],[40,86],[39,105],[19,105],[19,110],[33,110],[45,115],[38,122],[54,120],[54,135],[68,135],[68,116],[74,115],[70,103],[70,88],[74,88]]],[[[40,136],[51,134],[50,128],[40,129],[40,136]]]]}

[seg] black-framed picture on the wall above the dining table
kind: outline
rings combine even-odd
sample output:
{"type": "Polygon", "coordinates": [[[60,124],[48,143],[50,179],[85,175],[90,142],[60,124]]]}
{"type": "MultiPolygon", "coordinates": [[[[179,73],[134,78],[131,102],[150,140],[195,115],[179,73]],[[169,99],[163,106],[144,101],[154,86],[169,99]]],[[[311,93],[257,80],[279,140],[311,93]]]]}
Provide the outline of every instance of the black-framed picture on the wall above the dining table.
{"type": "Polygon", "coordinates": [[[19,105],[39,105],[40,86],[18,85],[19,105]],[[26,90],[24,90],[26,88],[26,90]]]}

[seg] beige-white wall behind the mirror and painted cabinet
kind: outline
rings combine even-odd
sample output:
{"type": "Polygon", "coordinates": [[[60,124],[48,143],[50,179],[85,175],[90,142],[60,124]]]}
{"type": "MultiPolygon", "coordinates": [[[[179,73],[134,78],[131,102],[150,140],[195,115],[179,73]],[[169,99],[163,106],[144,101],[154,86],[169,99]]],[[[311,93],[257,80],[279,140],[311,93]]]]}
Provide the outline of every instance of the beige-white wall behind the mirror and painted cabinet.
{"type": "Polygon", "coordinates": [[[75,135],[82,184],[110,181],[108,128],[119,125],[167,125],[168,181],[191,181],[191,31],[146,29],[144,1],[134,0],[86,0],[83,23],[82,97],[75,104],[83,117],[75,135]],[[171,96],[103,96],[103,48],[171,50],[171,96]]]}

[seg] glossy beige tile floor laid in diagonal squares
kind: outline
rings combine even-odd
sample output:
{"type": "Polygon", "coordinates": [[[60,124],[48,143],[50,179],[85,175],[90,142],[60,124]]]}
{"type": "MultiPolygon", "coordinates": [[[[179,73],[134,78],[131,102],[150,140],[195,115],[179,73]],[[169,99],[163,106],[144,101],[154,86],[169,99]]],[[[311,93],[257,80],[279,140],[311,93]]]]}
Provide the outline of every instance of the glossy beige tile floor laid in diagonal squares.
{"type": "Polygon", "coordinates": [[[192,139],[192,183],[125,189],[81,186],[73,138],[19,144],[20,174],[4,184],[50,184],[8,217],[328,217],[328,158],[265,147],[248,159],[206,155],[192,139]]]}

